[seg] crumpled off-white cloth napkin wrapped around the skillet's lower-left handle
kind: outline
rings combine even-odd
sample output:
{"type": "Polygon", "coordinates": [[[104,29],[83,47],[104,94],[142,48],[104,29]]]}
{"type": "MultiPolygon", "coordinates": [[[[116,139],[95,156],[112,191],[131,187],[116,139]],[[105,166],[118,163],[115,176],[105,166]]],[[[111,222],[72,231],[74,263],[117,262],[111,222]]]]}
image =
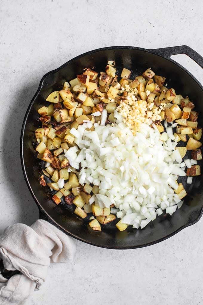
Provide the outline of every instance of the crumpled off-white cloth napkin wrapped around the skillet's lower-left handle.
{"type": "Polygon", "coordinates": [[[73,239],[45,220],[28,227],[13,224],[0,235],[5,269],[19,270],[9,280],[0,274],[0,305],[16,305],[45,281],[50,261],[66,263],[76,250],[73,239]]]}

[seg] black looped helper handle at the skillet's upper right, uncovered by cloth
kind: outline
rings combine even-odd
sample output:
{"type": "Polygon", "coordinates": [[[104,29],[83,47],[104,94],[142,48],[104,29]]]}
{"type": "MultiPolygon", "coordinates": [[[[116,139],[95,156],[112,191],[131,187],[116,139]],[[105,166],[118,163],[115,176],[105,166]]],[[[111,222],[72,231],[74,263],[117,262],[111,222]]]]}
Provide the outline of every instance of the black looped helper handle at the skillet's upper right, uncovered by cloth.
{"type": "Polygon", "coordinates": [[[168,47],[168,48],[160,48],[160,49],[152,49],[152,53],[170,59],[172,55],[177,54],[186,54],[191,59],[193,59],[196,63],[198,63],[201,68],[203,68],[203,57],[192,48],[188,47],[187,45],[180,45],[176,47],[168,47]]]}

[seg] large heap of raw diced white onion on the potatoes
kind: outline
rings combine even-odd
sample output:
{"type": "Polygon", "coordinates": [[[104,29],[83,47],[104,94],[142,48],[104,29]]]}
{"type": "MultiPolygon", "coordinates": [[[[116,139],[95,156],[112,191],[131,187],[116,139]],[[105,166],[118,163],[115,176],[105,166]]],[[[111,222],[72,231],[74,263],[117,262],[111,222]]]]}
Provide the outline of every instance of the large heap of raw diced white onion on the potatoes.
{"type": "Polygon", "coordinates": [[[89,130],[92,123],[88,121],[70,130],[80,150],[74,146],[65,153],[71,167],[78,170],[81,163],[77,172],[81,185],[99,186],[90,204],[110,207],[113,203],[116,208],[112,213],[133,228],[144,228],[162,210],[172,215],[183,203],[174,192],[176,180],[186,175],[180,153],[175,150],[172,127],[166,128],[167,141],[163,144],[154,124],[154,128],[142,124],[133,135],[116,111],[115,125],[105,126],[105,111],[101,124],[94,124],[94,131],[89,130]]]}

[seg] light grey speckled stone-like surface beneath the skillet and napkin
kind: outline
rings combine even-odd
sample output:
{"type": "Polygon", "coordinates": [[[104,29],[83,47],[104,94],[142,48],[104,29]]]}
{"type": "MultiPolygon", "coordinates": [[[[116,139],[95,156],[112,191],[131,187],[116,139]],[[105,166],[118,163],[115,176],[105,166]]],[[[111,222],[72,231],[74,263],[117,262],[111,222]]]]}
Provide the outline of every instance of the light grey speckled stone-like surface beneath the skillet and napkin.
{"type": "MultiPolygon", "coordinates": [[[[186,44],[203,56],[202,13],[201,0],[0,1],[0,233],[9,224],[38,218],[19,141],[41,77],[74,56],[111,45],[186,44]]],[[[191,59],[174,59],[203,83],[202,69],[191,59]]],[[[143,249],[107,250],[76,241],[74,261],[52,264],[26,304],[202,304],[202,240],[203,218],[143,249]]]]}

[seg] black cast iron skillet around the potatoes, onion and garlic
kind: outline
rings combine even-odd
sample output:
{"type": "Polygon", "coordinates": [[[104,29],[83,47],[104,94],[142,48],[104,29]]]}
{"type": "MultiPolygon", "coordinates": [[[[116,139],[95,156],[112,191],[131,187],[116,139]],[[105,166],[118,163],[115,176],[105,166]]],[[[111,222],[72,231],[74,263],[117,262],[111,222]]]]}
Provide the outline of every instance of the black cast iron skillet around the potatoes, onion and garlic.
{"type": "MultiPolygon", "coordinates": [[[[187,54],[203,68],[203,58],[188,46],[177,46],[161,49],[143,49],[137,47],[109,47],[93,50],[69,60],[56,70],[48,72],[40,82],[39,88],[28,106],[21,132],[20,153],[23,174],[28,188],[37,203],[40,218],[46,219],[66,234],[88,244],[110,249],[132,249],[153,245],[176,234],[183,228],[196,223],[203,213],[203,194],[201,176],[193,179],[192,185],[182,181],[188,196],[180,210],[172,217],[163,215],[143,230],[132,229],[120,232],[115,224],[107,224],[101,232],[92,231],[88,219],[80,219],[73,214],[72,207],[65,203],[56,206],[48,187],[43,188],[39,182],[42,161],[37,159],[34,150],[34,130],[40,126],[37,109],[46,105],[46,97],[54,90],[62,88],[64,81],[81,74],[84,68],[95,66],[95,70],[103,71],[108,60],[116,61],[118,72],[126,67],[133,71],[133,77],[140,75],[148,67],[157,75],[167,77],[169,88],[175,88],[177,94],[188,95],[200,112],[199,124],[203,126],[203,87],[197,79],[180,64],[170,58],[175,54],[187,54]],[[189,187],[188,187],[189,186],[189,187]]],[[[190,154],[188,153],[188,157],[190,154]]],[[[115,221],[116,222],[116,221],[115,221]]]]}

